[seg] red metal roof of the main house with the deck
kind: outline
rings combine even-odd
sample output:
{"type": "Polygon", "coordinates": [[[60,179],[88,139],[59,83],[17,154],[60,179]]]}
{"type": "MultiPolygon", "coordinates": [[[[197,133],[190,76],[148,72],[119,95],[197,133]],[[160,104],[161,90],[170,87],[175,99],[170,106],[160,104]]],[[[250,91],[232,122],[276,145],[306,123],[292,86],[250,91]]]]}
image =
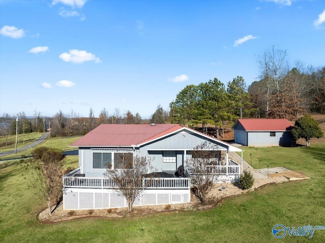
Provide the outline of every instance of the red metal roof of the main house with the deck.
{"type": "Polygon", "coordinates": [[[176,131],[178,124],[102,124],[71,146],[132,146],[176,131]]]}

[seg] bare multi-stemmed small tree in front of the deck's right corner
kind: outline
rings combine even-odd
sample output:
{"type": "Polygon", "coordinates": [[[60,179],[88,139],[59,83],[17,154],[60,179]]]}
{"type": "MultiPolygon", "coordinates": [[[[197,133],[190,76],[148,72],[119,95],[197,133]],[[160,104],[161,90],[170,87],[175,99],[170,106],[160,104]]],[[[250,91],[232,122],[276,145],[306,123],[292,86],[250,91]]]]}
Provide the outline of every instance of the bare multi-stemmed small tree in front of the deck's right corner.
{"type": "Polygon", "coordinates": [[[186,161],[190,170],[191,192],[202,204],[206,203],[207,195],[212,190],[218,178],[217,171],[214,171],[213,159],[220,157],[220,151],[211,144],[201,144],[191,151],[192,158],[186,161]]]}

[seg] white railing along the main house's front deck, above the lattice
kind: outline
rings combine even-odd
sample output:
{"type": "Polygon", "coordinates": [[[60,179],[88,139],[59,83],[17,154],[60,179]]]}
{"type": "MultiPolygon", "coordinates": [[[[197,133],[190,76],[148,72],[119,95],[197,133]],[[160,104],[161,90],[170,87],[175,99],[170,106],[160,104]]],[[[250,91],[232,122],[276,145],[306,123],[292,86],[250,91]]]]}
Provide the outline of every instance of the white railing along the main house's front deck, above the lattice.
{"type": "MultiPolygon", "coordinates": [[[[117,184],[108,178],[64,176],[62,180],[63,187],[118,188],[117,184]]],[[[146,189],[188,189],[190,187],[188,178],[144,178],[142,183],[146,189]]]]}

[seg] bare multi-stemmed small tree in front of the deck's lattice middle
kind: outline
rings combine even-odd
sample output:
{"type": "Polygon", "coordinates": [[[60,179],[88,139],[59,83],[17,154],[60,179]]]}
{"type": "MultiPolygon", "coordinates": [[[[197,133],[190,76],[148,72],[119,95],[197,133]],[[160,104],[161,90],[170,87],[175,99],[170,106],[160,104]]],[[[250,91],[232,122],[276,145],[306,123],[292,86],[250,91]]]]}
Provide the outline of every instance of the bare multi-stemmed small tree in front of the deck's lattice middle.
{"type": "Polygon", "coordinates": [[[150,183],[150,180],[144,180],[144,175],[153,167],[150,158],[133,157],[128,154],[131,153],[124,153],[120,158],[114,157],[115,169],[108,168],[105,176],[117,185],[117,190],[127,201],[128,212],[132,212],[135,199],[150,183]],[[118,169],[116,169],[117,165],[118,169]]]}

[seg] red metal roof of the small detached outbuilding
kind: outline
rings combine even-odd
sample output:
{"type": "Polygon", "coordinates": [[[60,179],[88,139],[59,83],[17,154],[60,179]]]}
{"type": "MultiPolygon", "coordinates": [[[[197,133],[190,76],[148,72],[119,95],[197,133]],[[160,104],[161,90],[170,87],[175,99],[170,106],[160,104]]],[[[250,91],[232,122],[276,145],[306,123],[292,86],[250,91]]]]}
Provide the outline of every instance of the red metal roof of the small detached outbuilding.
{"type": "Polygon", "coordinates": [[[287,119],[238,119],[246,131],[290,131],[294,125],[287,119]]]}

